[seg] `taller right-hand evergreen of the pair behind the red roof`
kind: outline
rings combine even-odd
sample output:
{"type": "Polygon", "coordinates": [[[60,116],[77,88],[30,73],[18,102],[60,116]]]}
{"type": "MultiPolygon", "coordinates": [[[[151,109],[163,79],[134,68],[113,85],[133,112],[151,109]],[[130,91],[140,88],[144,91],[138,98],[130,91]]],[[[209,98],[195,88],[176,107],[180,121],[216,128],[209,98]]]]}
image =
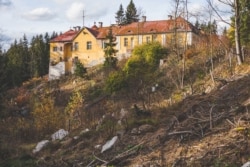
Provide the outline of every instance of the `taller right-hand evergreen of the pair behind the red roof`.
{"type": "Polygon", "coordinates": [[[133,0],[130,0],[130,3],[127,6],[126,10],[126,24],[130,24],[133,22],[138,22],[139,15],[137,14],[137,9],[133,0]]]}

